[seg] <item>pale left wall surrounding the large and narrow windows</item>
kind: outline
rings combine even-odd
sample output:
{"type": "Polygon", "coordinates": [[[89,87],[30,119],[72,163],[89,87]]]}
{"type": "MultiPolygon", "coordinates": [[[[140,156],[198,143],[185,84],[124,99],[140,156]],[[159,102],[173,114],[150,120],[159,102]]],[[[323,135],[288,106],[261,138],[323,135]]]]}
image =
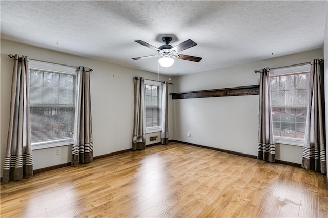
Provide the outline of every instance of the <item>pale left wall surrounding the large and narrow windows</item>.
{"type": "MultiPolygon", "coordinates": [[[[8,54],[26,55],[30,59],[50,61],[70,66],[86,66],[93,69],[90,74],[91,112],[94,156],[130,149],[133,130],[133,77],[142,76],[145,79],[157,80],[158,75],[122,67],[104,61],[93,60],[27,46],[24,44],[1,40],[1,72],[0,72],[0,122],[1,122],[1,177],[3,175],[4,157],[7,144],[10,91],[13,59],[8,54]]],[[[168,80],[160,75],[160,81],[168,80]]],[[[172,85],[169,85],[169,93],[172,85]]],[[[172,139],[172,100],[169,98],[169,139],[172,139]]],[[[71,146],[62,146],[61,155],[55,154],[55,148],[33,150],[33,169],[44,168],[70,162],[71,146]]]]}

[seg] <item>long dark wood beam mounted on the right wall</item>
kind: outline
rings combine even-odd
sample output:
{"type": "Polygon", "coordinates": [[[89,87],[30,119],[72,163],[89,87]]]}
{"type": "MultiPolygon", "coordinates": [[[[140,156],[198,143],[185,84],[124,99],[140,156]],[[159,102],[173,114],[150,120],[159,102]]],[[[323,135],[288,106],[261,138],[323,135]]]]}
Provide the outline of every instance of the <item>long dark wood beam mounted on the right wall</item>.
{"type": "Polygon", "coordinates": [[[249,86],[240,86],[240,87],[224,88],[224,89],[170,93],[170,95],[172,95],[172,99],[258,95],[260,91],[259,87],[260,87],[259,85],[249,85],[249,86]]]}

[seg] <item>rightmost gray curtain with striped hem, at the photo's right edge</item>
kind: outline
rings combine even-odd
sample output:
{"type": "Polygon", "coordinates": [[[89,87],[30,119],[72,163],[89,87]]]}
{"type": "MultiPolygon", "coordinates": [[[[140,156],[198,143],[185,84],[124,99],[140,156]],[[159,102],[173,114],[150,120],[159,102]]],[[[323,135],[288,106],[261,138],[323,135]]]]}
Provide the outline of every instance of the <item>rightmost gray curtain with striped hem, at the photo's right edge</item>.
{"type": "Polygon", "coordinates": [[[306,118],[305,144],[302,167],[326,173],[326,147],[324,124],[323,63],[311,61],[309,107],[306,118]]]}

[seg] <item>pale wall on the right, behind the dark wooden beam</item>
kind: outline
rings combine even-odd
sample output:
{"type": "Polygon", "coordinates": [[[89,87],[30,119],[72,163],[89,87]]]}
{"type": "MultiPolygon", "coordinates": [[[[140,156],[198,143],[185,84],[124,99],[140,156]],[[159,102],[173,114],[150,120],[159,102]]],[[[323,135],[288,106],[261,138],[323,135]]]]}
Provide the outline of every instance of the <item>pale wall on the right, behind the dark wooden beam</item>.
{"type": "MultiPolygon", "coordinates": [[[[174,92],[259,84],[254,70],[323,58],[323,49],[174,78],[174,92]]],[[[257,155],[259,95],[173,100],[175,140],[257,155]],[[191,137],[187,137],[187,132],[191,137]]],[[[276,159],[301,163],[302,147],[276,144],[276,159]]]]}

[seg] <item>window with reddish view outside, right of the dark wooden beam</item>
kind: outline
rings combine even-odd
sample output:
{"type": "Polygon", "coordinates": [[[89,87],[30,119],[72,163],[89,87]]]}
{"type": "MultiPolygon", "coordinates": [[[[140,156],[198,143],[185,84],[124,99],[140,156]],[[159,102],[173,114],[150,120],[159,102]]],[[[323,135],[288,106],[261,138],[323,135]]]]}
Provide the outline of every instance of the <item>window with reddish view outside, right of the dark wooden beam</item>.
{"type": "Polygon", "coordinates": [[[310,65],[270,72],[275,142],[303,145],[308,114],[310,65]]]}

